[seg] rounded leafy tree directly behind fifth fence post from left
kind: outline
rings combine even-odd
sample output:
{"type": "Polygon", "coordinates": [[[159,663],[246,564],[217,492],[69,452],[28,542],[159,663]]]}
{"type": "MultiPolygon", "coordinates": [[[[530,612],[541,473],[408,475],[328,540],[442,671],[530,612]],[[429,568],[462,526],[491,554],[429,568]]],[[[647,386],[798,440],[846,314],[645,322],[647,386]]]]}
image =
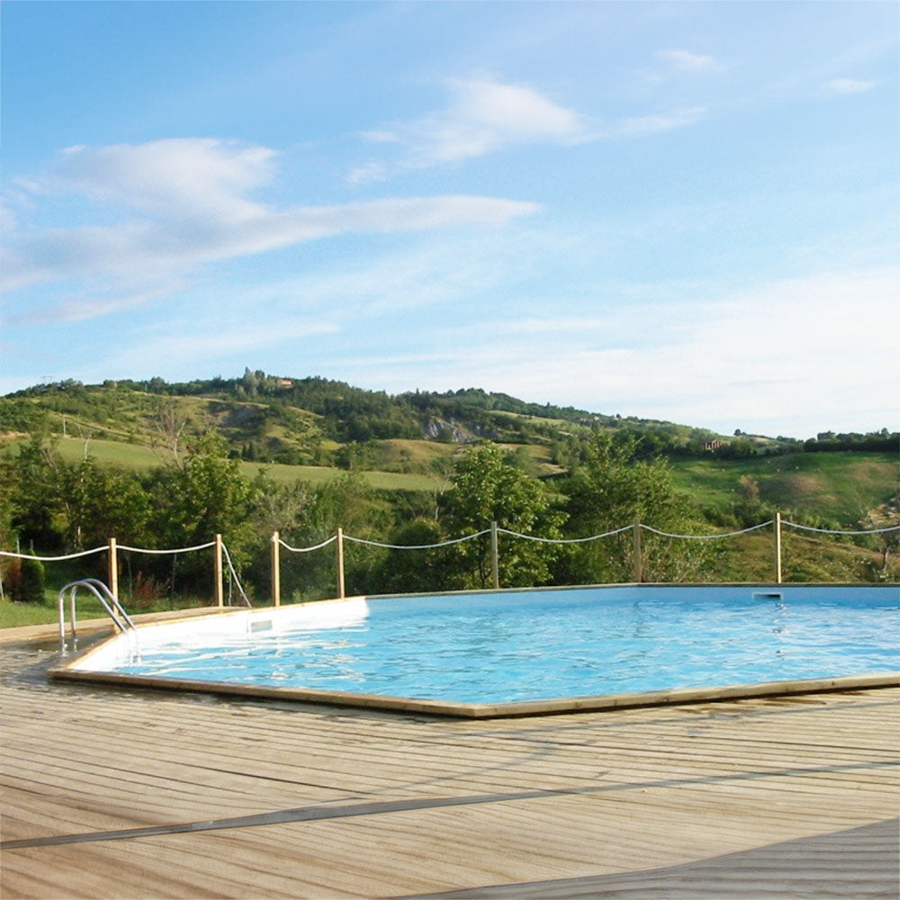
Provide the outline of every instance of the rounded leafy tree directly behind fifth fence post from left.
{"type": "MultiPolygon", "coordinates": [[[[544,486],[510,464],[500,447],[483,444],[456,461],[453,489],[441,498],[441,522],[452,536],[466,536],[491,522],[519,534],[560,536],[564,516],[551,508],[544,486]]],[[[488,587],[491,580],[490,537],[481,536],[453,548],[460,561],[455,587],[488,587]]],[[[504,536],[500,548],[500,584],[517,588],[546,584],[552,577],[557,547],[504,536]]],[[[449,587],[449,586],[448,586],[449,587]]]]}

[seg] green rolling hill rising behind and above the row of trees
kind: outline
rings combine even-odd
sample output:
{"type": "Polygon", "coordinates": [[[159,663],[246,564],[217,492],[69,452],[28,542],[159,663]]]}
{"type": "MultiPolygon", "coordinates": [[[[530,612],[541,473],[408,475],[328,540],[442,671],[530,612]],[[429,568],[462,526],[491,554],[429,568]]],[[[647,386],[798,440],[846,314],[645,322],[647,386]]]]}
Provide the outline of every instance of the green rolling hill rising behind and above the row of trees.
{"type": "Polygon", "coordinates": [[[254,473],[321,484],[354,469],[381,490],[433,491],[462,446],[488,439],[530,474],[576,468],[597,432],[635,458],[670,459],[680,487],[713,520],[727,521],[749,477],[760,500],[807,518],[852,526],[897,490],[898,436],[825,432],[815,439],[716,435],[672,422],[557,407],[465,389],[392,396],[347,383],[245,371],[190,383],[73,381],[0,398],[7,452],[25,437],[58,438],[67,458],[145,470],[183,455],[208,430],[254,473]]]}

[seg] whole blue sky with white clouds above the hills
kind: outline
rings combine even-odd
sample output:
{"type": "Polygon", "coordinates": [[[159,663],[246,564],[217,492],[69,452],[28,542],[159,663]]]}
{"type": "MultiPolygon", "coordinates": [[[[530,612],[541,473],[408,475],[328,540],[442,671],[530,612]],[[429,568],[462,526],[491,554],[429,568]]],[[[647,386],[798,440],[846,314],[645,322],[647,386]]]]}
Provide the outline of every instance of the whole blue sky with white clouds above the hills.
{"type": "Polygon", "coordinates": [[[898,10],[5,0],[0,393],[896,428],[898,10]]]}

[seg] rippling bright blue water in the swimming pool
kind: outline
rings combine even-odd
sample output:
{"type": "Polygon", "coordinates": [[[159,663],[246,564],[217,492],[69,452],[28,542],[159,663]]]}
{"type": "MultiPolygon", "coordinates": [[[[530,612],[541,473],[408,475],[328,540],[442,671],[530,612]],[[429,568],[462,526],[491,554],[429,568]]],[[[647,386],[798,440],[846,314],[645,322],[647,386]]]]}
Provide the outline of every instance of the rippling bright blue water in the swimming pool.
{"type": "Polygon", "coordinates": [[[383,598],[322,605],[318,617],[293,622],[291,609],[254,613],[228,635],[204,635],[202,623],[140,629],[140,662],[121,658],[110,668],[467,703],[900,669],[891,589],[643,586],[383,598]]]}

